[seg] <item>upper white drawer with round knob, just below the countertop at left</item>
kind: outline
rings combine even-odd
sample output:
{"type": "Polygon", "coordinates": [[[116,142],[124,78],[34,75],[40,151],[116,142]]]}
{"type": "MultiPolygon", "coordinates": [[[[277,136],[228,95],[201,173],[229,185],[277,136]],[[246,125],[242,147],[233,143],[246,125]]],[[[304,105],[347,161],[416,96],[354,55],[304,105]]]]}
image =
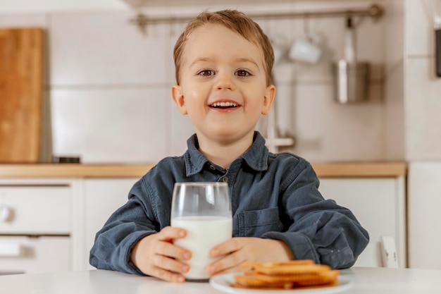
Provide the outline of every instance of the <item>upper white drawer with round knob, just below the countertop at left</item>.
{"type": "Polygon", "coordinates": [[[69,186],[0,185],[0,235],[70,233],[69,186]]]}

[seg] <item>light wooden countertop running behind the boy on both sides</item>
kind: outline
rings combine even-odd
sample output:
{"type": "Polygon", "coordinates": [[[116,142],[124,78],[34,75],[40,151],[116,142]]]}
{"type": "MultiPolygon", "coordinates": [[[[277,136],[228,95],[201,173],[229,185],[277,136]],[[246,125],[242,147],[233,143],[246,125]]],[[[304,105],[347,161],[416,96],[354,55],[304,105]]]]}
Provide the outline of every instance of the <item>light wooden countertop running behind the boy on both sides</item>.
{"type": "MultiPolygon", "coordinates": [[[[139,178],[154,164],[0,164],[0,178],[139,178]]],[[[319,178],[396,178],[405,162],[312,164],[319,178]]]]}

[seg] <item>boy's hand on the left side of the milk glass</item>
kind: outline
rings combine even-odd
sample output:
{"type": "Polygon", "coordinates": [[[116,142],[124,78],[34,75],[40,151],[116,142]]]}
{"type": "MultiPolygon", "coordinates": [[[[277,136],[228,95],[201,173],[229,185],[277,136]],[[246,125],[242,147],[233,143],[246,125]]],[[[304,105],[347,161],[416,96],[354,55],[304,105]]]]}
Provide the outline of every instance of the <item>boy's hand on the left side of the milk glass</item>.
{"type": "Polygon", "coordinates": [[[185,238],[187,232],[182,228],[167,226],[159,233],[142,238],[133,247],[130,260],[139,270],[149,276],[156,276],[165,281],[184,282],[182,273],[190,267],[177,259],[187,260],[191,252],[173,245],[173,240],[185,238]]]}

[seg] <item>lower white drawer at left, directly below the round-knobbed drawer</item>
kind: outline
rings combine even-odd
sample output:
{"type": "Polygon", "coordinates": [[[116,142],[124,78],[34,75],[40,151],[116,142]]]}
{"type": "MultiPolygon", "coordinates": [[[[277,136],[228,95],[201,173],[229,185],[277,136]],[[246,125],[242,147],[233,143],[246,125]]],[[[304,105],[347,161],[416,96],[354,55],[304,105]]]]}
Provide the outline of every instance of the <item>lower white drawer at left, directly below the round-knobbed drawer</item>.
{"type": "Polygon", "coordinates": [[[0,275],[69,270],[70,237],[0,236],[0,275]]]}

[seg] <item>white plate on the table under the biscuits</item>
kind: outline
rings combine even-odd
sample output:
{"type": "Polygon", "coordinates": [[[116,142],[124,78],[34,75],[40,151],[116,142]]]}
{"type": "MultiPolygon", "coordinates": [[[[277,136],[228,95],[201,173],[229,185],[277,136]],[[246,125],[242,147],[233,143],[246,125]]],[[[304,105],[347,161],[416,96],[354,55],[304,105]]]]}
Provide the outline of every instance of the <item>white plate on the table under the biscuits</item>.
{"type": "Polygon", "coordinates": [[[231,287],[230,284],[235,281],[234,276],[238,275],[239,273],[232,273],[232,274],[221,274],[218,276],[213,276],[210,278],[210,285],[213,286],[213,288],[216,288],[218,290],[221,290],[225,293],[231,293],[231,294],[271,294],[271,293],[278,293],[278,294],[288,294],[288,293],[313,293],[313,294],[329,294],[329,293],[337,293],[341,292],[343,290],[347,290],[352,286],[352,282],[349,281],[347,278],[344,278],[343,276],[339,276],[338,278],[338,285],[333,287],[325,287],[325,288],[309,288],[309,289],[289,289],[289,290],[258,290],[258,289],[241,289],[241,288],[234,288],[231,287]]]}

